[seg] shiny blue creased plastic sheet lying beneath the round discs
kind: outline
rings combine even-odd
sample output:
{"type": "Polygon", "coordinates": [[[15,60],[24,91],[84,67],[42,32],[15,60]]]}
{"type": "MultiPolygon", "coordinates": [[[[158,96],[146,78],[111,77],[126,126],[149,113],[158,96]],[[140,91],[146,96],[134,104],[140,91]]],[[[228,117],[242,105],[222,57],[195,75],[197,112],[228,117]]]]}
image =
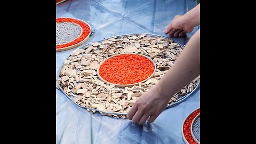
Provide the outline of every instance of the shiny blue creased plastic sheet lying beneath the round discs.
{"type": "MultiPolygon", "coordinates": [[[[163,30],[174,16],[184,14],[194,6],[195,1],[182,0],[69,0],[56,6],[56,18],[70,17],[88,22],[95,33],[83,44],[86,45],[115,35],[152,33],[166,36],[163,30]]],[[[187,37],[173,39],[184,45],[197,29],[194,28],[187,37]]],[[[75,49],[56,53],[56,77],[64,60],[75,49]]],[[[56,90],[56,142],[185,143],[181,135],[182,123],[199,107],[199,95],[197,89],[179,105],[164,110],[153,123],[142,126],[127,118],[92,114],[56,90]]]]}

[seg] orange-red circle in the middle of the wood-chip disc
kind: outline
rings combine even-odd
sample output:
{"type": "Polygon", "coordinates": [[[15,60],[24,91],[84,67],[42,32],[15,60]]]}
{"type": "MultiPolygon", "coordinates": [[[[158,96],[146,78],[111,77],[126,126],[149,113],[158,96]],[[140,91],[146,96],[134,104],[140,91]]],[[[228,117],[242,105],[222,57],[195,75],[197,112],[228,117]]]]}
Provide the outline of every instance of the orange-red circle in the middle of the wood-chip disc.
{"type": "Polygon", "coordinates": [[[135,85],[154,75],[153,60],[141,54],[118,54],[102,61],[98,76],[102,81],[119,86],[135,85]]]}

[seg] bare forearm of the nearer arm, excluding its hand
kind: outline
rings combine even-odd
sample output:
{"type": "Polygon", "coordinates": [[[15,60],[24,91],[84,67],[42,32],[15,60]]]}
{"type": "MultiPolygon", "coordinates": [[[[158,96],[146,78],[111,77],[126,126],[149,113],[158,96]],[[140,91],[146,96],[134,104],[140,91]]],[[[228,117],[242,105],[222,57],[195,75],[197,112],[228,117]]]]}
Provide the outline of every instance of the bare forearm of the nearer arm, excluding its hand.
{"type": "Polygon", "coordinates": [[[173,67],[155,89],[168,99],[200,75],[200,29],[190,38],[173,67]]]}

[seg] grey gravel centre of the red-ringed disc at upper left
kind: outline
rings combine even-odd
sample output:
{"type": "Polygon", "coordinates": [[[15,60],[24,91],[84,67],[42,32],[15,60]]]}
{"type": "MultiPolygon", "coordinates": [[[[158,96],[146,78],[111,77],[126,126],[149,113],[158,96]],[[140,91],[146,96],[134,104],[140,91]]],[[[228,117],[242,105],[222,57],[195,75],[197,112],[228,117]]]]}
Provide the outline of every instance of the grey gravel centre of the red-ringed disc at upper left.
{"type": "Polygon", "coordinates": [[[56,22],[56,45],[74,41],[81,31],[81,27],[75,23],[56,22]]]}

